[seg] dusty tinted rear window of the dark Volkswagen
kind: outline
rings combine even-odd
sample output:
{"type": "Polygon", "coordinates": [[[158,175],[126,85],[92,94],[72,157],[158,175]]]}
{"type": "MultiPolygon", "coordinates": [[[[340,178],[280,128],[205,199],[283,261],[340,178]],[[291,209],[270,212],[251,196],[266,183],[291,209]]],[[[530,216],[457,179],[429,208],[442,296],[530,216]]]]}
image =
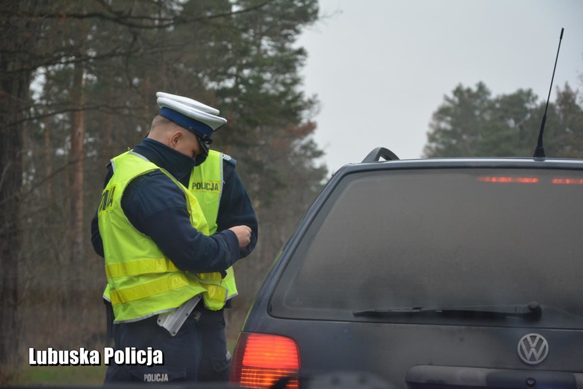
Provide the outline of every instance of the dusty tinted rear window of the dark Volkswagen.
{"type": "Polygon", "coordinates": [[[326,200],[286,265],[271,313],[452,323],[352,313],[536,301],[542,319],[529,325],[583,328],[582,279],[583,171],[369,171],[347,175],[326,200]]]}

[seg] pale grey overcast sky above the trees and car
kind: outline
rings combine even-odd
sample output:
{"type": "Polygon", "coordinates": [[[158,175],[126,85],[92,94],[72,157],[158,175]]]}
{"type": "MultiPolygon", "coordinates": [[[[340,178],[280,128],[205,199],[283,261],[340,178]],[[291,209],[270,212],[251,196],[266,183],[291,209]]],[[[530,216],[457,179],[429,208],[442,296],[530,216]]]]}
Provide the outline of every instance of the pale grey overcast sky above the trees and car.
{"type": "Polygon", "coordinates": [[[320,12],[330,16],[298,44],[331,173],[377,146],[419,157],[431,114],[458,83],[546,100],[561,27],[551,101],[565,82],[583,89],[583,0],[320,0],[320,12]]]}

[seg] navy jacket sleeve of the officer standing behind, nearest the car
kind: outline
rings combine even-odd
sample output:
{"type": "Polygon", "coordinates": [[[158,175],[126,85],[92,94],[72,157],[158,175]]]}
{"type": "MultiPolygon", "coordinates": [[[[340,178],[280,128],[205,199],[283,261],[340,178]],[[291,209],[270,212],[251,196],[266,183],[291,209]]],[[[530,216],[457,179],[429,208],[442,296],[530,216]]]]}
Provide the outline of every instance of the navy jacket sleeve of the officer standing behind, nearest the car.
{"type": "Polygon", "coordinates": [[[258,223],[251,199],[245,185],[239,178],[235,166],[229,161],[223,161],[224,187],[217,215],[217,231],[223,231],[234,226],[248,226],[251,228],[250,243],[241,248],[239,258],[245,258],[257,244],[258,223]]]}

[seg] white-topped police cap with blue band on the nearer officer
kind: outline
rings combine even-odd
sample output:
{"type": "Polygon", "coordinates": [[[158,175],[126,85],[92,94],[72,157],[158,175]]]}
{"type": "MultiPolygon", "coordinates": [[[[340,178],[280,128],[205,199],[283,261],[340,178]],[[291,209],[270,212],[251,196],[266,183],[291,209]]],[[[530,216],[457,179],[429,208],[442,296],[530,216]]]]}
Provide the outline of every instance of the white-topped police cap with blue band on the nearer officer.
{"type": "MultiPolygon", "coordinates": [[[[213,132],[227,123],[225,118],[206,113],[200,108],[195,108],[192,101],[195,103],[198,103],[198,101],[188,99],[187,97],[182,97],[182,99],[191,100],[191,105],[181,103],[174,99],[168,99],[167,97],[158,97],[157,103],[160,106],[160,115],[205,139],[210,139],[213,132]]],[[[198,104],[204,105],[202,103],[198,104]]],[[[214,108],[208,108],[214,110],[214,108]]]]}

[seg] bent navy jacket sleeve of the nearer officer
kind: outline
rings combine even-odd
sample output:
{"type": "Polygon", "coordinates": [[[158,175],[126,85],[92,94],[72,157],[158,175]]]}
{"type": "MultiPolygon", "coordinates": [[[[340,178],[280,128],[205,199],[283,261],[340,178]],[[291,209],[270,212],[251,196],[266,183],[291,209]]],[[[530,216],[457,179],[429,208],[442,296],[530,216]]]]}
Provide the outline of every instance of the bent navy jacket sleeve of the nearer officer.
{"type": "Polygon", "coordinates": [[[235,233],[226,230],[205,236],[192,227],[184,193],[161,171],[133,180],[121,206],[129,222],[182,271],[224,271],[238,260],[235,233]]]}

